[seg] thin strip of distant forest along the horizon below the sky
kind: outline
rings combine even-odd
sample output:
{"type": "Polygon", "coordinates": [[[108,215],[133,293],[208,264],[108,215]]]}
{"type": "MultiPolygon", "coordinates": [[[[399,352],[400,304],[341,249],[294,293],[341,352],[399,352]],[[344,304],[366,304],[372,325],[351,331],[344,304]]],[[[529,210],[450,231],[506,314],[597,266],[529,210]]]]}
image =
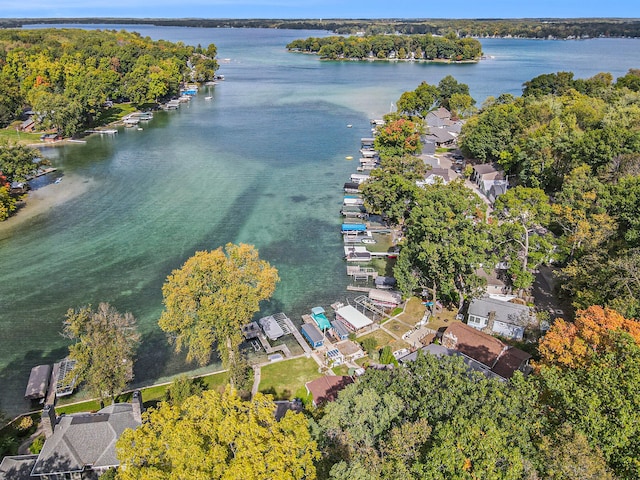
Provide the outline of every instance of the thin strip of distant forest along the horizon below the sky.
{"type": "Polygon", "coordinates": [[[433,34],[455,32],[461,37],[587,38],[639,37],[640,21],[616,18],[534,19],[140,19],[140,18],[44,18],[0,19],[1,27],[34,23],[150,24],[207,28],[289,28],[326,30],[341,35],[433,34]]]}

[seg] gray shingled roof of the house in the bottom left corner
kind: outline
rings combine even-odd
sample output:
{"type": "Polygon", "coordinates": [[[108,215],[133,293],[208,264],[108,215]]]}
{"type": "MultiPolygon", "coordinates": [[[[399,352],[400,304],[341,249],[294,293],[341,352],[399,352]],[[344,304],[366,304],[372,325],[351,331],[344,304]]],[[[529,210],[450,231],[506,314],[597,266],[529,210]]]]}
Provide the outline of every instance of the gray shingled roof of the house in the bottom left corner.
{"type": "Polygon", "coordinates": [[[33,474],[116,466],[116,441],[125,429],[138,425],[130,403],[110,405],[98,413],[63,415],[45,442],[33,474]]]}

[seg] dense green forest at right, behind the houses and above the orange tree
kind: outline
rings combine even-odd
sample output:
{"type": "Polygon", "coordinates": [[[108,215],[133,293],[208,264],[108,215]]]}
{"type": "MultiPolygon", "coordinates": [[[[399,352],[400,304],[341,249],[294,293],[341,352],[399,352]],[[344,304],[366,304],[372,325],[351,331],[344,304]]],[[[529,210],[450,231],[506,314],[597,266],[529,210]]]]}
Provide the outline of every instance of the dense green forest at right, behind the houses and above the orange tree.
{"type": "Polygon", "coordinates": [[[536,237],[550,242],[575,307],[640,315],[640,70],[616,81],[536,77],[522,97],[488,99],[460,144],[537,192],[545,211],[536,237]]]}

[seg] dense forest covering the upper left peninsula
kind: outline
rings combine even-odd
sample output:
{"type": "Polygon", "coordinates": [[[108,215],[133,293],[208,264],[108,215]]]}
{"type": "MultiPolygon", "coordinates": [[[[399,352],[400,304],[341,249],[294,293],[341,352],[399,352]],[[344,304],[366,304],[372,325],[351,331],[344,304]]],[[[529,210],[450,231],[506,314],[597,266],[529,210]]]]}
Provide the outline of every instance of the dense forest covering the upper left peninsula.
{"type": "Polygon", "coordinates": [[[29,106],[39,129],[72,135],[100,123],[108,100],[157,102],[213,79],[215,55],[124,30],[0,30],[0,127],[29,106]]]}

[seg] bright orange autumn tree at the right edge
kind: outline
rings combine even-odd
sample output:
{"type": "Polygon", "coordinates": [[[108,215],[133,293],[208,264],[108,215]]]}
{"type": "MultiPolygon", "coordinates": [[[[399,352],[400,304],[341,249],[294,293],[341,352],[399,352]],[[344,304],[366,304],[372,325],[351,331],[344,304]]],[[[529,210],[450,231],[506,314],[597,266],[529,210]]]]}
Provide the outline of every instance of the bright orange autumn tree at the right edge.
{"type": "Polygon", "coordinates": [[[556,320],[540,341],[541,363],[568,368],[584,366],[591,355],[613,346],[610,333],[615,331],[628,333],[640,344],[640,322],[596,305],[578,310],[573,323],[556,320]]]}

